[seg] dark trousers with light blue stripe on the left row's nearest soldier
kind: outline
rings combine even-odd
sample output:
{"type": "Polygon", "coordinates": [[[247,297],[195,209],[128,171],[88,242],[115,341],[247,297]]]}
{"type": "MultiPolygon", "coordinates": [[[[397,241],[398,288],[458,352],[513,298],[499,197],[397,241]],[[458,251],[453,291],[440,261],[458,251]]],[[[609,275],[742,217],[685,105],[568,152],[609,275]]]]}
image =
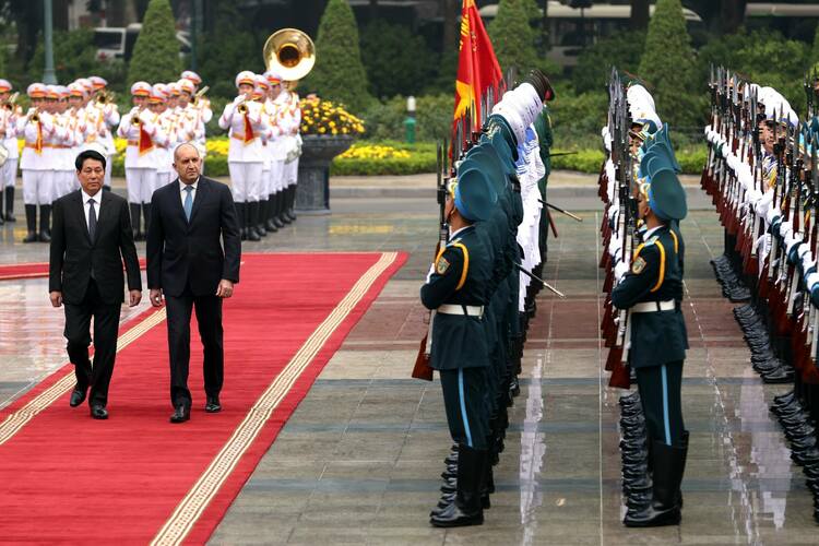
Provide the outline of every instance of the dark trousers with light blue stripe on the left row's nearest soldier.
{"type": "Polygon", "coordinates": [[[455,443],[486,449],[489,415],[486,403],[489,368],[439,370],[449,432],[455,443]]]}

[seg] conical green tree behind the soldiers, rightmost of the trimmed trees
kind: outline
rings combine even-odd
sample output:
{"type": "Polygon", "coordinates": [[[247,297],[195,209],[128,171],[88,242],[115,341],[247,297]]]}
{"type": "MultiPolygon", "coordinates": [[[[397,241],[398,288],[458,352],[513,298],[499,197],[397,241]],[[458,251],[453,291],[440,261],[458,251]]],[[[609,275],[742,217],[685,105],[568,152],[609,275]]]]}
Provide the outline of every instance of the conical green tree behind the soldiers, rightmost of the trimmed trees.
{"type": "Polygon", "coordinates": [[[640,78],[653,86],[657,114],[672,124],[700,124],[691,38],[679,0],[657,0],[649,23],[640,78]]]}

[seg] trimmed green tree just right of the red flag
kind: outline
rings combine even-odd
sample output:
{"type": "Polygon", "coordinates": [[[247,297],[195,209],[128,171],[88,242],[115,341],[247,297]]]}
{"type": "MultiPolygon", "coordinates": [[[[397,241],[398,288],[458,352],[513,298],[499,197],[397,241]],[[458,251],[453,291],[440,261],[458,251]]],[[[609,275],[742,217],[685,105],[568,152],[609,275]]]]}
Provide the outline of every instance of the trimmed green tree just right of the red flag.
{"type": "Polygon", "coordinates": [[[537,10],[532,0],[500,0],[498,14],[487,29],[505,72],[514,68],[524,74],[537,66],[535,31],[530,24],[533,7],[537,10]]]}

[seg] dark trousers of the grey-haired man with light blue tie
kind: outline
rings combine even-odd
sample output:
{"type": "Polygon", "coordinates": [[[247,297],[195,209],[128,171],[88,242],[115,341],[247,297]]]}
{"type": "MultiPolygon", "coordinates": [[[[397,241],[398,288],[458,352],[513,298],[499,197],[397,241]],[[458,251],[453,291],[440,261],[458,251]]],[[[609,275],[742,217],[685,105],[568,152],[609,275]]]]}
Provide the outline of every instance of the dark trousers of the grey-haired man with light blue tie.
{"type": "Polygon", "coordinates": [[[224,377],[224,331],[222,329],[222,298],[213,295],[194,296],[190,287],[181,296],[166,296],[168,316],[168,349],[170,353],[170,403],[174,407],[191,405],[188,390],[190,365],[190,317],[197,310],[199,335],[204,349],[204,389],[209,396],[218,396],[224,377]]]}

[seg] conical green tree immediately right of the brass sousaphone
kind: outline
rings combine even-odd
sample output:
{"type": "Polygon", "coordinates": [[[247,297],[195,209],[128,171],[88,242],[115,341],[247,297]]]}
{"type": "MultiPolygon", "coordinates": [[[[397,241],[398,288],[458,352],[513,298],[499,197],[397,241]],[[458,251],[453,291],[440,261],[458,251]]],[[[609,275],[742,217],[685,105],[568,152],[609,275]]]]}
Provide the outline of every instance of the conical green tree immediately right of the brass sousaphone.
{"type": "Polygon", "coordinates": [[[358,25],[346,0],[330,0],[319,23],[316,67],[305,83],[321,97],[337,100],[353,112],[372,99],[358,46],[358,25]]]}

